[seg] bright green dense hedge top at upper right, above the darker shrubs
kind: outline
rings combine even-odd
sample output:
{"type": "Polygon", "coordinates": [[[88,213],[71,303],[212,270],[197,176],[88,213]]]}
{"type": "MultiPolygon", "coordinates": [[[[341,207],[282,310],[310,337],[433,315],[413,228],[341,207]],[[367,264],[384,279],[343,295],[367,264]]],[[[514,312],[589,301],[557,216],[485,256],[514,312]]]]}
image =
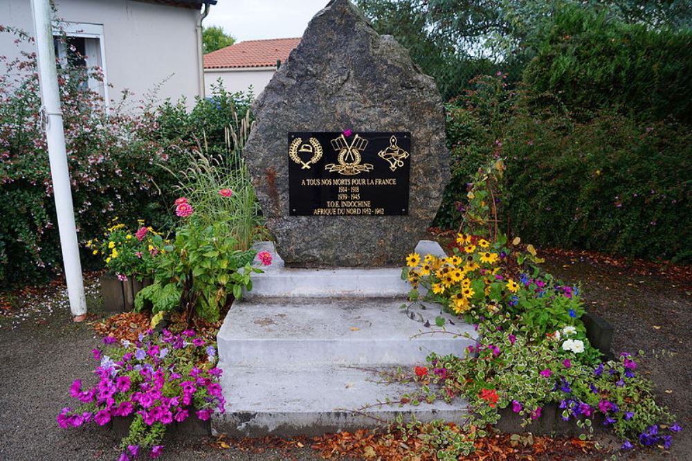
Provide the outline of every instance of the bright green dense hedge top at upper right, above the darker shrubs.
{"type": "Polygon", "coordinates": [[[561,8],[524,73],[572,111],[617,109],[641,120],[692,121],[692,28],[652,30],[603,12],[561,8]]]}

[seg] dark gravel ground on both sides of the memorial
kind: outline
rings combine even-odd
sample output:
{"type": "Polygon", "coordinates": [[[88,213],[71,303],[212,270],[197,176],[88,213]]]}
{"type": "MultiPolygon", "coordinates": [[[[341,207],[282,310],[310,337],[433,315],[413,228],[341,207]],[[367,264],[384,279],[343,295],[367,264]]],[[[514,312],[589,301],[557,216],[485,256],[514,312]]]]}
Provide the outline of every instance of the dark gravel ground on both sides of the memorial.
{"type": "MultiPolygon", "coordinates": [[[[549,256],[547,271],[582,280],[590,307],[615,325],[616,351],[644,350],[641,369],[657,384],[662,403],[678,416],[682,433],[671,453],[637,451],[638,460],[692,460],[692,293],[656,275],[637,275],[588,260],[549,256]]],[[[89,310],[99,311],[98,285],[87,285],[89,310]]],[[[86,323],[71,322],[64,289],[35,291],[15,300],[21,309],[0,316],[0,461],[113,460],[118,440],[92,425],[70,431],[55,422],[71,404],[69,386],[91,372],[91,349],[99,344],[86,323]]],[[[612,440],[600,440],[614,446],[612,440]]],[[[209,440],[167,440],[161,460],[316,460],[310,449],[216,449],[209,440]]],[[[599,458],[610,459],[610,455],[599,458]]]]}

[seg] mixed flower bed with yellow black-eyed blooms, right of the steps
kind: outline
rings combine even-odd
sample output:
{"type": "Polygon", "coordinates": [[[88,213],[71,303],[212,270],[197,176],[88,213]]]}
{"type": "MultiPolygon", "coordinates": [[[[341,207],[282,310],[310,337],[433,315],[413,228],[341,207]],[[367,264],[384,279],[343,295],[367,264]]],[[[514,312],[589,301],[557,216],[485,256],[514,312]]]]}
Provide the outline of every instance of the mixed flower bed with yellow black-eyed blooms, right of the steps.
{"type": "MultiPolygon", "coordinates": [[[[464,357],[432,353],[428,365],[415,367],[409,377],[421,388],[406,401],[463,397],[471,404],[464,434],[455,435],[454,443],[438,441],[437,458],[468,454],[474,440],[487,434],[485,427],[510,412],[522,426],[549,413],[553,419],[543,431],[558,427],[557,412],[564,422],[576,424],[582,438],[596,424],[611,428],[623,450],[635,444],[668,449],[681,428],[656,403],[653,383],[639,374],[636,356],[641,352],[603,360],[581,320],[585,309],[579,286],[541,272],[533,246],[522,251],[518,237],[508,242],[498,232],[495,205],[502,170],[502,161],[479,170],[462,223],[468,233],[457,235],[453,254],[414,253],[403,270],[413,287],[412,301],[424,296],[439,302],[473,323],[478,334],[464,357]]],[[[445,431],[437,434],[449,439],[445,431]]]]}

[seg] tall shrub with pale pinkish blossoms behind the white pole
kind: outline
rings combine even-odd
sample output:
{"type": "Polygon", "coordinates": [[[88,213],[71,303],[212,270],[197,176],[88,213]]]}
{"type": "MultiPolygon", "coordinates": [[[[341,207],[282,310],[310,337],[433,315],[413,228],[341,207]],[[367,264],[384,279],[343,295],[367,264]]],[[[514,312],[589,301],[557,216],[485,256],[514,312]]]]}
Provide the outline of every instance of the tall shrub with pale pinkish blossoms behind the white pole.
{"type": "MultiPolygon", "coordinates": [[[[0,27],[27,40],[18,30],[0,27]]],[[[35,55],[24,53],[4,62],[0,75],[0,280],[12,284],[41,282],[59,273],[61,255],[46,141],[41,126],[35,55]]],[[[181,148],[192,148],[208,133],[207,145],[226,152],[226,127],[246,114],[250,96],[217,87],[191,111],[183,101],[161,107],[143,103],[138,114],[104,109],[102,98],[86,79],[99,69],[61,66],[59,71],[66,147],[72,180],[75,220],[80,240],[97,235],[113,216],[128,226],[141,217],[165,229],[174,223],[170,208],[177,181],[173,171],[188,167],[181,148]],[[237,115],[236,115],[237,114],[237,115]]],[[[124,105],[124,104],[123,104],[124,105]]],[[[84,252],[85,266],[98,264],[84,252]]]]}

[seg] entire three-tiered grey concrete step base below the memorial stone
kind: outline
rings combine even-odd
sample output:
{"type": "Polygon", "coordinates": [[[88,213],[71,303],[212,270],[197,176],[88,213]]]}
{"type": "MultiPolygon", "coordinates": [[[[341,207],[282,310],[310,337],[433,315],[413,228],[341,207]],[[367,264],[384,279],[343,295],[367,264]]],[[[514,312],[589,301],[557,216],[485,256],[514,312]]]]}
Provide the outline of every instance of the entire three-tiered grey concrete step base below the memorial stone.
{"type": "MultiPolygon", "coordinates": [[[[226,398],[226,413],[212,422],[217,431],[318,435],[398,415],[461,421],[466,402],[401,406],[417,386],[383,383],[377,371],[410,370],[430,352],[461,355],[473,343],[470,325],[430,303],[412,307],[412,320],[400,308],[410,287],[399,269],[286,269],[271,244],[260,248],[277,264],[253,279],[217,336],[226,398]],[[454,321],[448,332],[426,326],[437,316],[454,321]]],[[[417,251],[444,255],[435,242],[417,251]]]]}

